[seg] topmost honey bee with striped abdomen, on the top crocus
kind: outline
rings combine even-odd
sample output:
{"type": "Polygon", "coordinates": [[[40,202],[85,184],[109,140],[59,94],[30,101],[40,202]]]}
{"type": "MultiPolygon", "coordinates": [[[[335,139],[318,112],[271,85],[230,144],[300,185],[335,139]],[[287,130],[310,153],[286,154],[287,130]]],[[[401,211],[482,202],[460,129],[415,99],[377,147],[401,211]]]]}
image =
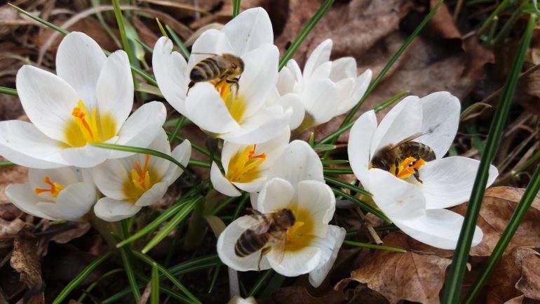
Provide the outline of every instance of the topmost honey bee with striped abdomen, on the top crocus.
{"type": "Polygon", "coordinates": [[[244,62],[241,58],[231,54],[212,54],[212,56],[199,61],[189,72],[189,84],[187,91],[197,82],[217,80],[215,86],[222,84],[234,84],[238,89],[238,80],[244,70],[244,62]]]}

